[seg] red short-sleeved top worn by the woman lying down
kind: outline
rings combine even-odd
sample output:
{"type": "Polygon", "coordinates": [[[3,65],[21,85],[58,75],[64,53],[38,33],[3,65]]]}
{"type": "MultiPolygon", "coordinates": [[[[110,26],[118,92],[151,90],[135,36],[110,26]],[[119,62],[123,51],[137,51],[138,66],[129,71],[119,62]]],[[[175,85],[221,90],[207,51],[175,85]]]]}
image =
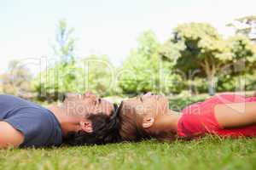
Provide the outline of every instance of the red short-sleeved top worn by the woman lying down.
{"type": "Polygon", "coordinates": [[[183,109],[183,115],[177,123],[177,134],[185,138],[201,136],[205,133],[231,137],[256,136],[256,125],[224,129],[220,127],[214,115],[215,105],[253,101],[256,101],[256,97],[246,98],[236,94],[222,94],[189,105],[183,109]]]}

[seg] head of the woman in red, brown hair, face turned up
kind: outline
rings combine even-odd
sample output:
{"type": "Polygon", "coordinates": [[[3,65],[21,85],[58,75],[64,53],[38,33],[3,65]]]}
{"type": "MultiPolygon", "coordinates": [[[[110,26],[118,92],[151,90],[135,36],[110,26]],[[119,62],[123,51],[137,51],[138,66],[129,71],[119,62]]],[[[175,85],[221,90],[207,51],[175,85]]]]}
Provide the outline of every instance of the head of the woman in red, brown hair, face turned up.
{"type": "Polygon", "coordinates": [[[172,114],[168,104],[166,97],[151,93],[123,101],[119,106],[121,138],[126,141],[174,139],[175,133],[165,122],[165,117],[172,114]]]}

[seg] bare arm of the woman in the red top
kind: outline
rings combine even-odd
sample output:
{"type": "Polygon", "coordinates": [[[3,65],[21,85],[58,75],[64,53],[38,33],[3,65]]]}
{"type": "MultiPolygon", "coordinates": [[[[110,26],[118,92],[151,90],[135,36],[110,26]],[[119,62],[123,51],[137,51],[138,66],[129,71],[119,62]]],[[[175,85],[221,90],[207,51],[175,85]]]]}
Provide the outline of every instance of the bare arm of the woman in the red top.
{"type": "Polygon", "coordinates": [[[245,127],[256,124],[256,102],[220,104],[214,108],[221,127],[245,127]]]}

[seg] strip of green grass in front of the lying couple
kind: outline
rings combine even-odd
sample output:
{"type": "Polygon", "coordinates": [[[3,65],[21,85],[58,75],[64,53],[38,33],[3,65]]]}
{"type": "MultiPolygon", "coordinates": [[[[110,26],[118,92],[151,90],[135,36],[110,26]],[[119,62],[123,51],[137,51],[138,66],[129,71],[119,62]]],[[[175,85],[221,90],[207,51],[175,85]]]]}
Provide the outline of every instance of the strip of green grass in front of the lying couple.
{"type": "Polygon", "coordinates": [[[0,169],[256,169],[256,139],[0,150],[0,169]]]}

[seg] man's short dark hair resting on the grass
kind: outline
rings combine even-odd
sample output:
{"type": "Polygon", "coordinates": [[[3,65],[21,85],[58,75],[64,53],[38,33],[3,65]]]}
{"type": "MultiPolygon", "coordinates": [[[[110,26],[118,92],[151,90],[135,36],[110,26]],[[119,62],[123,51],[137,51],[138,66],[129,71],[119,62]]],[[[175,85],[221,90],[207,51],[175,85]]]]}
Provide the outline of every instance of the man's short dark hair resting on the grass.
{"type": "Polygon", "coordinates": [[[106,114],[90,114],[87,117],[92,122],[92,133],[68,133],[64,139],[64,144],[84,145],[84,144],[108,144],[120,141],[119,136],[119,110],[114,105],[114,111],[111,116],[106,114]]]}

